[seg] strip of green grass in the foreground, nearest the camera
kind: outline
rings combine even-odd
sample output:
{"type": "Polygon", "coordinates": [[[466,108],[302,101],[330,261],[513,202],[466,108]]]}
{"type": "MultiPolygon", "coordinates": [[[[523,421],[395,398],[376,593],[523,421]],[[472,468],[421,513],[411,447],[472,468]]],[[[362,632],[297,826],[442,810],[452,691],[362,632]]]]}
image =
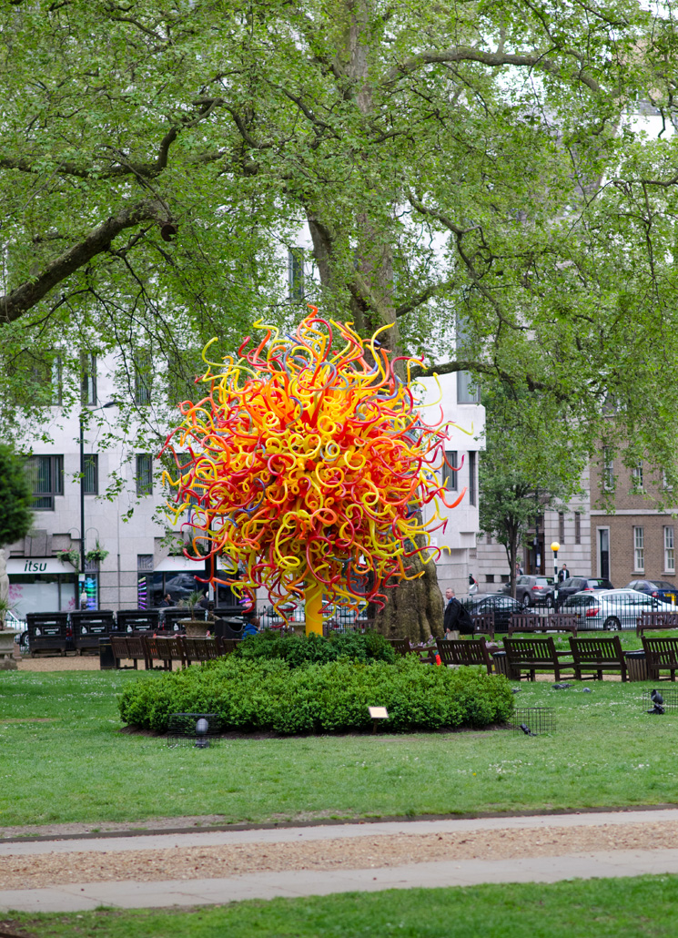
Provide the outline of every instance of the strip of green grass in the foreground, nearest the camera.
{"type": "Polygon", "coordinates": [[[12,915],[40,938],[673,938],[678,877],[571,880],[249,900],[189,911],[12,915]]]}

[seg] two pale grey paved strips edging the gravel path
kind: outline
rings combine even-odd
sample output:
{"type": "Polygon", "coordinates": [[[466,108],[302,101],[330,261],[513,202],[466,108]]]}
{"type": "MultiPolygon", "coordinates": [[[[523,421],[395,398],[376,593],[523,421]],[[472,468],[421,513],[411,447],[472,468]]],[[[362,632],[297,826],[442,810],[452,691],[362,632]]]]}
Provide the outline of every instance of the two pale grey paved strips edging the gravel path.
{"type": "MultiPolygon", "coordinates": [[[[281,830],[194,831],[146,833],[129,837],[102,836],[82,840],[0,842],[3,857],[39,857],[54,854],[124,853],[166,848],[207,847],[224,844],[326,841],[393,837],[402,834],[458,834],[460,832],[539,830],[595,827],[597,825],[651,825],[675,823],[678,809],[601,812],[477,820],[401,821],[347,825],[288,827],[281,830]]],[[[607,850],[557,856],[522,856],[509,859],[444,860],[356,870],[283,870],[247,873],[232,878],[69,883],[32,889],[0,890],[0,912],[77,912],[99,905],[150,908],[221,903],[244,899],[299,897],[348,891],[411,888],[413,886],[476,885],[481,883],[554,883],[574,877],[637,876],[641,873],[678,873],[678,849],[607,850]]]]}

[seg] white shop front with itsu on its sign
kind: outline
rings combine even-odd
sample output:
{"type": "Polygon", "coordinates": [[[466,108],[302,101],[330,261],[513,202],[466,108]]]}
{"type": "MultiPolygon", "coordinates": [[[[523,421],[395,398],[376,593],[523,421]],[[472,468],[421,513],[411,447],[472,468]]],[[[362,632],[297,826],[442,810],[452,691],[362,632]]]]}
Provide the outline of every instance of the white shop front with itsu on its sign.
{"type": "Polygon", "coordinates": [[[78,608],[78,575],[55,557],[10,557],[8,577],[9,601],[18,619],[78,608]]]}

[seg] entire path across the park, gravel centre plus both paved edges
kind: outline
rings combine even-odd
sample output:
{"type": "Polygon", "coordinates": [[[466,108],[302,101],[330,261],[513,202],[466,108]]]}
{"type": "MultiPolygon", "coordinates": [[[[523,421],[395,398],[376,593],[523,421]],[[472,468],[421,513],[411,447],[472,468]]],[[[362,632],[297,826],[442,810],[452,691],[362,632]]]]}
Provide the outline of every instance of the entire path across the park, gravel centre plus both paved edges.
{"type": "Polygon", "coordinates": [[[53,863],[53,870],[58,870],[54,879],[63,882],[0,889],[0,911],[188,906],[354,890],[553,883],[571,878],[678,873],[678,849],[668,845],[676,842],[677,831],[678,809],[656,809],[114,838],[104,835],[83,840],[5,840],[0,842],[2,870],[14,864],[22,871],[22,884],[30,884],[31,870],[35,868],[36,876],[44,880],[53,863]],[[582,842],[595,844],[595,849],[582,850],[582,842]],[[619,849],[615,849],[617,843],[619,849]],[[629,848],[629,843],[634,846],[629,848]],[[440,858],[431,862],[426,856],[436,845],[440,858]],[[351,866],[352,856],[364,859],[366,849],[374,862],[351,866]],[[493,858],[493,853],[505,855],[493,858]],[[214,877],[195,872],[202,869],[193,862],[197,857],[203,858],[206,869],[216,870],[221,855],[227,857],[227,870],[239,862],[248,871],[214,877]],[[421,855],[420,862],[416,862],[416,855],[421,855]],[[399,862],[399,857],[405,856],[414,856],[414,862],[399,862]],[[159,869],[171,875],[152,876],[158,857],[159,869]],[[125,872],[126,863],[132,861],[134,866],[139,864],[139,876],[106,878],[109,864],[125,872]],[[69,878],[71,863],[73,869],[85,873],[97,870],[96,878],[69,878]],[[271,863],[279,869],[266,869],[271,863]],[[286,863],[294,868],[286,868],[286,863]],[[172,875],[176,867],[188,872],[172,875]]]}

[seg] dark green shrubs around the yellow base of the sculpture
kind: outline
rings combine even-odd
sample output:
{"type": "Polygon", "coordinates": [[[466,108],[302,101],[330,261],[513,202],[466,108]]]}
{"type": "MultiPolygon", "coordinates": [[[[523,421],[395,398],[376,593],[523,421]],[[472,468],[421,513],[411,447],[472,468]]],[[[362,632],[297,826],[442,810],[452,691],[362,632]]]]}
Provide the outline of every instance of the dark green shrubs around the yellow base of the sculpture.
{"type": "Polygon", "coordinates": [[[321,635],[283,635],[272,629],[265,629],[240,643],[235,650],[238,658],[275,659],[281,658],[291,668],[304,664],[325,664],[339,658],[352,658],[354,661],[388,661],[393,664],[395,652],[383,635],[368,631],[345,632],[324,638],[321,635]]]}

